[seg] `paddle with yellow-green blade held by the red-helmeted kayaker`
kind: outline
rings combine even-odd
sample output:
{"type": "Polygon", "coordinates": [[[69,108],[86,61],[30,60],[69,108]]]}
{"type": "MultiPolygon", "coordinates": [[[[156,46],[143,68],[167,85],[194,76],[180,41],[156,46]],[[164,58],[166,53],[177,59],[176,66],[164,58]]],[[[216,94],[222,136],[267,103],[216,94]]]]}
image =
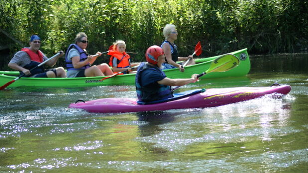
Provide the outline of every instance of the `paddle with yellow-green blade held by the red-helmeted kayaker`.
{"type": "MultiPolygon", "coordinates": [[[[210,64],[210,67],[205,72],[199,74],[197,78],[200,78],[203,75],[211,73],[211,72],[225,72],[225,71],[233,69],[239,64],[240,64],[240,60],[235,55],[225,54],[213,60],[210,64]]],[[[174,91],[178,89],[179,87],[181,86],[176,86],[172,90],[174,91]]]]}

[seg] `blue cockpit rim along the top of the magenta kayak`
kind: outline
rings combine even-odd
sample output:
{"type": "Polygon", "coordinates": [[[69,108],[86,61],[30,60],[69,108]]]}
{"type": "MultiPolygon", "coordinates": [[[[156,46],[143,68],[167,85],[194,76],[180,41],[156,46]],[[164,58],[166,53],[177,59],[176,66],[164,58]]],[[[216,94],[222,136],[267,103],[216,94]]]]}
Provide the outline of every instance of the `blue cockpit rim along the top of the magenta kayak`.
{"type": "Polygon", "coordinates": [[[144,101],[137,101],[137,104],[145,105],[145,104],[156,104],[156,103],[163,103],[163,102],[168,102],[168,101],[173,101],[173,100],[178,100],[181,98],[185,98],[197,93],[205,92],[205,89],[193,89],[193,90],[188,90],[185,92],[179,92],[173,94],[173,97],[167,98],[167,99],[162,99],[162,100],[156,100],[156,101],[150,101],[150,102],[144,102],[144,101]]]}

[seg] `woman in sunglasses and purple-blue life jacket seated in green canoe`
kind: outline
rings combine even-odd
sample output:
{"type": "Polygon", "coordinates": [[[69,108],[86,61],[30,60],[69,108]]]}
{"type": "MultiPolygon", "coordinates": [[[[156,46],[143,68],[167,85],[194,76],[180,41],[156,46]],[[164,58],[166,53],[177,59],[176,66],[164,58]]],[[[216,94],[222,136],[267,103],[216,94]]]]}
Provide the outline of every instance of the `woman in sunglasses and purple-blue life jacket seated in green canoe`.
{"type": "Polygon", "coordinates": [[[84,32],[78,33],[75,37],[75,43],[69,45],[65,54],[67,77],[74,78],[112,75],[113,72],[106,63],[91,66],[96,58],[101,56],[102,53],[97,52],[96,54],[98,54],[98,56],[88,55],[86,51],[87,46],[87,35],[84,32]]]}

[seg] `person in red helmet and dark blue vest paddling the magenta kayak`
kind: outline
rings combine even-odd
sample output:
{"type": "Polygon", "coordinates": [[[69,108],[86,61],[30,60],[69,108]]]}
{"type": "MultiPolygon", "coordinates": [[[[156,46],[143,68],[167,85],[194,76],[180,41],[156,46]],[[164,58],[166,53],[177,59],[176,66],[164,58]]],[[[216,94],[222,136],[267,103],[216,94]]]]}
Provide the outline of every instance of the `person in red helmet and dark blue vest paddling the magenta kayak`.
{"type": "Polygon", "coordinates": [[[191,78],[168,78],[160,69],[165,62],[165,55],[159,46],[151,46],[146,51],[146,63],[141,63],[136,73],[136,92],[140,101],[150,102],[173,97],[171,86],[195,83],[198,74],[191,78]]]}

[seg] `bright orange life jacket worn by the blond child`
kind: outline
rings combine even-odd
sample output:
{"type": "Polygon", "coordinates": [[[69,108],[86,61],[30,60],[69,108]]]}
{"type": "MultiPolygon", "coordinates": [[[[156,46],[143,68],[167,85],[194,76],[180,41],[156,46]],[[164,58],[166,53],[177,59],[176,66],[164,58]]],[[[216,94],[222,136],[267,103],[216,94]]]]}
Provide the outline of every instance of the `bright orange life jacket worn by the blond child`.
{"type": "MultiPolygon", "coordinates": [[[[130,61],[129,61],[130,55],[127,54],[126,52],[121,53],[121,52],[118,52],[118,51],[109,51],[108,55],[111,55],[110,59],[109,59],[109,65],[110,66],[113,66],[112,60],[115,57],[120,61],[120,63],[117,64],[117,68],[131,67],[130,61]]],[[[117,72],[114,72],[114,73],[117,73],[117,72]]]]}

